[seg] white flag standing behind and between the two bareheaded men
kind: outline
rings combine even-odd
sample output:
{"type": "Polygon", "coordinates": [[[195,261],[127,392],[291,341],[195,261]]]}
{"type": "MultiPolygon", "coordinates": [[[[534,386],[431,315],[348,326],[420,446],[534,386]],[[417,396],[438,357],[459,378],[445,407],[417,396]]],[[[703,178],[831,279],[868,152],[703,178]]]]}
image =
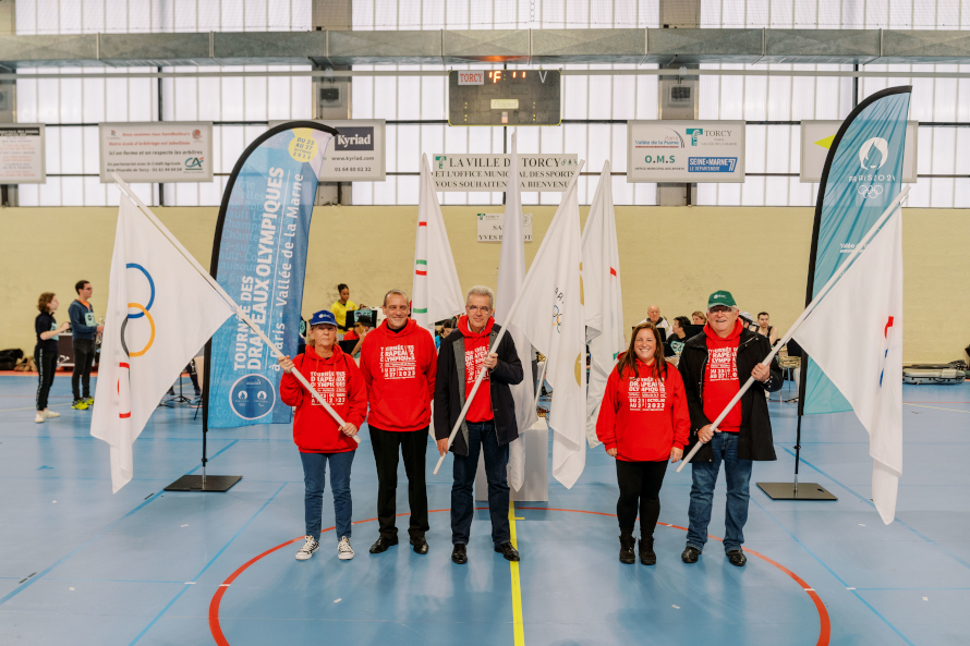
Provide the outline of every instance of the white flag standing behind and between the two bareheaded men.
{"type": "Polygon", "coordinates": [[[435,322],[464,312],[464,298],[445,219],[435,193],[435,181],[421,158],[421,186],[417,198],[417,235],[414,243],[414,283],[411,312],[417,325],[434,334],[435,322]]]}

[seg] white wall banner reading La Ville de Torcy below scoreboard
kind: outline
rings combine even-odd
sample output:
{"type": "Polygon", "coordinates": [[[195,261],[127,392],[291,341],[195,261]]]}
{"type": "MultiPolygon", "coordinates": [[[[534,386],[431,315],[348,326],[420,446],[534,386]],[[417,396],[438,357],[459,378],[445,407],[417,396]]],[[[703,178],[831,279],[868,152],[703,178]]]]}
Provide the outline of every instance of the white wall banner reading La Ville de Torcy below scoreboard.
{"type": "MultiPolygon", "coordinates": [[[[510,155],[435,155],[432,173],[437,191],[502,193],[508,182],[510,155]]],[[[579,158],[575,155],[519,155],[522,191],[562,192],[579,158]]]]}

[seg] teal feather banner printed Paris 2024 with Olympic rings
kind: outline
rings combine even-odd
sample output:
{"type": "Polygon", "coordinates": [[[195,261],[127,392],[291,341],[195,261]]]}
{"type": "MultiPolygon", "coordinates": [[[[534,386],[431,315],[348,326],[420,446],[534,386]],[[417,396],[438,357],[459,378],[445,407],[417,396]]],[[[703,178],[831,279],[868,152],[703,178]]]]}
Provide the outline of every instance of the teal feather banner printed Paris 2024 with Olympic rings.
{"type": "MultiPolygon", "coordinates": [[[[902,190],[911,90],[909,85],[889,87],[868,97],[832,142],[815,204],[807,306],[902,190]]],[[[832,333],[851,334],[852,330],[833,328],[832,333]]],[[[802,413],[852,410],[817,365],[808,362],[803,375],[802,413]]]]}

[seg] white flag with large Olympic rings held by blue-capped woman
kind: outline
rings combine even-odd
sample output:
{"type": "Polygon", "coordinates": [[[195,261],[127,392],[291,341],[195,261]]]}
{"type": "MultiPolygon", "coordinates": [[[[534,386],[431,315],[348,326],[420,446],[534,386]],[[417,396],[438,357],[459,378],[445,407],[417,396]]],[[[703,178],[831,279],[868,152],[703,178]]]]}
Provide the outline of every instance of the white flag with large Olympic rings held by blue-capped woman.
{"type": "Polygon", "coordinates": [[[133,475],[132,444],[230,306],[121,194],[90,434],[111,447],[111,487],[133,475]]]}

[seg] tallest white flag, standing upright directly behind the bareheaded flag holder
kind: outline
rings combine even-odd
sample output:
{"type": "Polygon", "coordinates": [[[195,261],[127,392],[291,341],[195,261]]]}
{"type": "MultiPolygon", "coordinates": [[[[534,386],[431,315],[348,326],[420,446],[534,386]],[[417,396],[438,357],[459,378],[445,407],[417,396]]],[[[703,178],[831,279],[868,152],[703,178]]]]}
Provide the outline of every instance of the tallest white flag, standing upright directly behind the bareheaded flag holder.
{"type": "MultiPolygon", "coordinates": [[[[522,197],[519,193],[519,153],[516,148],[516,134],[512,134],[512,154],[510,156],[509,179],[506,187],[506,215],[501,231],[501,252],[498,257],[498,289],[495,295],[495,321],[508,327],[507,334],[516,342],[516,351],[522,362],[522,381],[512,389],[516,401],[516,422],[519,432],[524,432],[535,424],[538,415],[535,412],[535,379],[532,376],[532,346],[521,327],[506,317],[522,282],[525,280],[525,240],[522,233],[522,197]]],[[[521,306],[520,306],[521,308],[521,306]]],[[[509,487],[512,491],[522,488],[525,482],[525,453],[522,442],[509,444],[509,487]]]]}

